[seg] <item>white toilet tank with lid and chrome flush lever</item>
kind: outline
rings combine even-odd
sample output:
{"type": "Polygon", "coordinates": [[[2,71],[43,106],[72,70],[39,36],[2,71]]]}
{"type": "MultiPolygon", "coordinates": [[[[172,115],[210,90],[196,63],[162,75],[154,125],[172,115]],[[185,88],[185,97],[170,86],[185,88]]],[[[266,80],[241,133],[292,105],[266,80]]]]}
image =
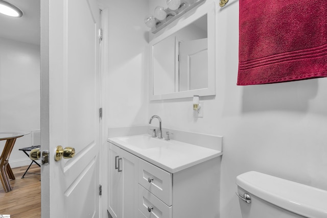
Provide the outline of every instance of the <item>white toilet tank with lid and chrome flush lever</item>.
{"type": "Polygon", "coordinates": [[[327,217],[325,190],[254,171],[239,175],[236,184],[243,218],[327,217]]]}

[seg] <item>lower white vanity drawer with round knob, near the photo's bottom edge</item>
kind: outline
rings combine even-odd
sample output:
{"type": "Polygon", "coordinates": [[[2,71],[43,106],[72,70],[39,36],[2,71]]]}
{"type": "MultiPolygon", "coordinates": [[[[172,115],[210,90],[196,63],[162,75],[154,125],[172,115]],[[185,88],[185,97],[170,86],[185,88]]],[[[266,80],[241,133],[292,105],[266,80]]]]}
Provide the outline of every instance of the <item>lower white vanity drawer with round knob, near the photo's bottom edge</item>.
{"type": "MultiPolygon", "coordinates": [[[[138,210],[148,218],[171,218],[172,206],[167,206],[147,189],[138,185],[138,210]],[[149,211],[150,210],[150,211],[149,211]]],[[[141,213],[138,213],[138,217],[141,213]]]]}

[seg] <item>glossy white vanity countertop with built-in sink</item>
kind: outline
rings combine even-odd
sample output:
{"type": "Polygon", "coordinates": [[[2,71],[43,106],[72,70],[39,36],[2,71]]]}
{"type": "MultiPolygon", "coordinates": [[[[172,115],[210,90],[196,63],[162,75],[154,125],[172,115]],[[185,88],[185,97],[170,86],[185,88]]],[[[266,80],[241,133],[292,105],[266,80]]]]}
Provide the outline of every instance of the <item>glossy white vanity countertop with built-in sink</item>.
{"type": "Polygon", "coordinates": [[[112,137],[108,138],[108,142],[169,173],[176,173],[222,155],[221,151],[176,140],[152,138],[148,134],[112,137]]]}

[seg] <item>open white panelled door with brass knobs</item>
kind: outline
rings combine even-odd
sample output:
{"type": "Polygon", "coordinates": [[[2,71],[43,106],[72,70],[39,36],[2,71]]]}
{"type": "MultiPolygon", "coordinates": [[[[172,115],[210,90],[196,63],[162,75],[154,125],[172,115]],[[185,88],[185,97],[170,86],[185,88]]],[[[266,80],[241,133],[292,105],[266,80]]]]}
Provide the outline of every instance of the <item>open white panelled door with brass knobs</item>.
{"type": "Polygon", "coordinates": [[[96,0],[41,2],[42,218],[99,217],[99,38],[96,0]],[[57,146],[75,148],[54,160],[57,146]]]}

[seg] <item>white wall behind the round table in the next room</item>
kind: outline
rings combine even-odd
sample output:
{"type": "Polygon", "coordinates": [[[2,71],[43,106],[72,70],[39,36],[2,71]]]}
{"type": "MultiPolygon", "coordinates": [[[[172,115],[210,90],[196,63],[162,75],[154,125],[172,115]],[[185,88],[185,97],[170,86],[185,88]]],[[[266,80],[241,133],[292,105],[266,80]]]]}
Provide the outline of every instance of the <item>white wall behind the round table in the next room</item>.
{"type": "MultiPolygon", "coordinates": [[[[0,38],[0,131],[40,129],[40,46],[0,38]]],[[[5,141],[0,141],[0,151],[5,141]]],[[[19,148],[31,145],[31,134],[17,138],[11,167],[27,165],[19,148]]]]}

